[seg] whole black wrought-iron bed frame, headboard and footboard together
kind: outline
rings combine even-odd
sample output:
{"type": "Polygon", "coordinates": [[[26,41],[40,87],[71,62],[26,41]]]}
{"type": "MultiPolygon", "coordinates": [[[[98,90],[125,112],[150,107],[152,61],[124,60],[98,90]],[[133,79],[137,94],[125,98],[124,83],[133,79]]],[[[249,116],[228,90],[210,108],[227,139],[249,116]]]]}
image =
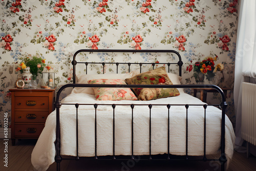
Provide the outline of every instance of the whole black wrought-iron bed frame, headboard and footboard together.
{"type": "MultiPolygon", "coordinates": [[[[83,87],[83,88],[88,88],[88,87],[104,87],[104,88],[118,88],[118,85],[111,85],[111,84],[78,84],[78,83],[75,83],[75,69],[76,69],[76,65],[78,63],[82,63],[84,65],[86,65],[86,74],[87,74],[87,67],[90,63],[98,63],[98,64],[101,64],[102,67],[103,67],[103,74],[104,74],[104,66],[105,64],[115,64],[116,67],[117,67],[117,73],[118,73],[118,66],[119,64],[124,64],[124,65],[128,65],[129,66],[129,72],[130,72],[130,66],[132,64],[136,64],[136,65],[139,65],[140,66],[140,72],[141,72],[141,67],[142,65],[152,65],[153,66],[153,69],[154,69],[154,66],[157,64],[157,65],[167,65],[168,66],[168,72],[169,72],[169,66],[172,64],[172,65],[178,65],[179,66],[179,75],[181,76],[181,68],[182,68],[182,65],[183,65],[183,62],[181,60],[181,56],[180,54],[177,52],[177,51],[174,51],[174,50],[110,50],[110,49],[105,49],[105,50],[91,50],[91,49],[82,49],[82,50],[78,50],[75,54],[74,54],[74,57],[73,57],[73,61],[72,61],[72,65],[73,65],[73,82],[74,83],[70,83],[70,84],[66,84],[64,86],[62,86],[58,93],[57,93],[57,96],[56,96],[56,101],[55,101],[55,108],[56,108],[56,141],[55,141],[55,149],[56,149],[56,155],[55,155],[55,162],[56,162],[56,169],[57,170],[60,170],[60,162],[62,160],[80,160],[80,159],[95,159],[95,160],[99,160],[99,159],[106,159],[106,160],[110,160],[111,158],[108,157],[108,156],[97,156],[97,106],[98,105],[111,105],[112,108],[113,108],[113,155],[112,155],[112,159],[111,160],[129,160],[129,159],[132,159],[132,160],[135,160],[135,157],[134,157],[134,152],[133,152],[133,147],[134,147],[134,135],[133,135],[133,109],[134,109],[134,106],[135,105],[145,105],[145,104],[73,104],[73,103],[60,103],[60,100],[59,100],[59,96],[61,94],[61,92],[66,89],[66,88],[75,88],[75,87],[83,87]],[[109,52],[109,53],[112,53],[112,52],[117,52],[117,53],[128,53],[128,52],[132,52],[132,53],[175,53],[178,57],[179,57],[179,61],[176,62],[176,63],[123,63],[123,62],[77,62],[76,61],[76,55],[81,53],[81,52],[109,52]],[[65,158],[65,156],[61,156],[60,155],[60,145],[61,145],[61,142],[60,142],[60,113],[59,113],[59,108],[61,105],[75,105],[76,107],[76,156],[72,156],[72,157],[68,157],[68,158],[65,158]],[[79,108],[79,105],[94,105],[94,108],[95,108],[95,157],[80,157],[78,155],[78,119],[77,119],[77,115],[78,115],[78,108],[79,108]],[[116,105],[130,105],[131,106],[131,112],[132,112],[132,156],[131,158],[126,158],[126,156],[120,156],[120,157],[117,157],[115,156],[115,107],[116,105]]],[[[120,86],[120,85],[119,85],[120,86]]],[[[167,107],[167,110],[168,110],[168,144],[167,144],[167,155],[161,155],[162,157],[164,158],[161,158],[161,160],[167,160],[167,161],[172,161],[172,160],[200,160],[200,161],[220,161],[221,163],[221,170],[225,170],[225,163],[227,161],[226,159],[226,156],[225,156],[225,110],[226,110],[226,107],[227,107],[227,103],[225,101],[225,96],[224,96],[224,93],[223,91],[218,87],[218,86],[215,86],[215,85],[194,85],[194,84],[182,84],[182,85],[122,85],[122,88],[213,88],[213,89],[216,89],[220,94],[221,94],[221,99],[222,99],[222,102],[220,104],[211,104],[213,106],[219,106],[219,108],[222,110],[222,121],[221,121],[221,156],[219,159],[207,159],[206,158],[206,108],[208,106],[208,104],[146,104],[148,105],[148,108],[149,108],[149,114],[150,114],[150,155],[143,155],[143,157],[141,158],[141,160],[159,160],[158,157],[156,157],[156,159],[154,159],[154,155],[151,155],[151,108],[153,105],[165,105],[167,107]],[[169,109],[170,109],[170,106],[172,105],[183,105],[185,106],[186,108],[186,155],[184,157],[184,159],[175,159],[175,158],[172,158],[172,155],[169,154],[169,148],[170,148],[170,143],[169,143],[169,140],[170,140],[170,119],[169,119],[169,109]],[[202,105],[203,108],[204,108],[204,155],[203,155],[203,158],[202,159],[191,159],[189,158],[188,156],[188,108],[190,105],[202,105]],[[167,157],[166,157],[167,156],[167,157]]],[[[148,101],[150,103],[150,101],[148,101]]]]}

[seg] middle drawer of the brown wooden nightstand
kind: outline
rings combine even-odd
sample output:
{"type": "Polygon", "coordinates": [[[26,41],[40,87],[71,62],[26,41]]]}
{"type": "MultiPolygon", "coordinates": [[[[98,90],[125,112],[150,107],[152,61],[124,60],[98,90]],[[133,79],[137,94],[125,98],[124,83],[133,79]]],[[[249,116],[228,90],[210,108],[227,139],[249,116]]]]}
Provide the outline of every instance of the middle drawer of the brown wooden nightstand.
{"type": "Polygon", "coordinates": [[[15,122],[45,122],[48,111],[15,111],[15,122]]]}

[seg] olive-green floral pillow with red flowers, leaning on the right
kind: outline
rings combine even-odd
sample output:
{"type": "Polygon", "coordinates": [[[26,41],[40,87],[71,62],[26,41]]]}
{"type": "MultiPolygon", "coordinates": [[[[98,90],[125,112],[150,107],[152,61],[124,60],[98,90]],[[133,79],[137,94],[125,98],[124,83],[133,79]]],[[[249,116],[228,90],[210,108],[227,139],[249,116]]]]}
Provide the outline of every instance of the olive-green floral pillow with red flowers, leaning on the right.
{"type": "MultiPolygon", "coordinates": [[[[169,79],[165,67],[147,71],[138,74],[132,78],[126,78],[128,84],[170,84],[173,82],[169,79]]],[[[135,95],[139,100],[152,100],[163,97],[179,96],[180,92],[176,88],[168,89],[150,89],[150,88],[133,88],[135,95]]]]}

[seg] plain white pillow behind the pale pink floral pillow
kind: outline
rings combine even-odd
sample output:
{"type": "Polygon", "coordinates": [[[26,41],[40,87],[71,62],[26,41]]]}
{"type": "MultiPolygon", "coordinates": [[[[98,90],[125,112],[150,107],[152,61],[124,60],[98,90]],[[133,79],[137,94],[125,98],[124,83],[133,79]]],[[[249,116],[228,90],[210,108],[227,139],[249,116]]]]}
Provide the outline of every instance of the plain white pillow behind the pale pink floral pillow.
{"type": "MultiPolygon", "coordinates": [[[[135,70],[125,74],[76,74],[76,83],[87,84],[90,79],[125,79],[131,78],[140,73],[140,70],[135,70]]],[[[71,93],[86,93],[94,95],[93,88],[74,88],[71,93]]]]}

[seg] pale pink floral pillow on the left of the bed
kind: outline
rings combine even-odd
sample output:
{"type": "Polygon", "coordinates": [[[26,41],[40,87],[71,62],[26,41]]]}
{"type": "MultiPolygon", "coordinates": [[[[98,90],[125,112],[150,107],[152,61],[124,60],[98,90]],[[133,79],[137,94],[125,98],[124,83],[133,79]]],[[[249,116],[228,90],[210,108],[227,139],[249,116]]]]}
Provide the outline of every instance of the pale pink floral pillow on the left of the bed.
{"type": "MultiPolygon", "coordinates": [[[[125,84],[122,79],[91,79],[89,84],[125,84]]],[[[122,87],[122,86],[118,86],[122,87]]],[[[138,100],[129,88],[94,88],[96,100],[138,100]]]]}

